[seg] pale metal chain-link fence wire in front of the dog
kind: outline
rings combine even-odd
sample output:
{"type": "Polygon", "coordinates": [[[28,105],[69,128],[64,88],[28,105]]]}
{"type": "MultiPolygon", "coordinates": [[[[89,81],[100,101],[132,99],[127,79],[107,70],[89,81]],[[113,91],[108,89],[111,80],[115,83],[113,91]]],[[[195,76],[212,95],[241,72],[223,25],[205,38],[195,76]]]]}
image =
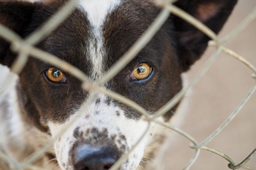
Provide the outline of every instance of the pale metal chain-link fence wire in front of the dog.
{"type": "MultiPolygon", "coordinates": [[[[45,36],[47,36],[52,30],[57,28],[57,26],[64,21],[65,18],[68,17],[68,15],[71,14],[71,12],[74,11],[74,9],[77,6],[78,0],[71,0],[68,1],[67,4],[65,4],[60,11],[57,12],[54,16],[51,17],[44,25],[42,25],[40,28],[32,32],[31,35],[28,35],[26,38],[22,39],[18,34],[15,32],[9,30],[4,25],[0,25],[0,36],[1,38],[5,39],[9,43],[11,43],[11,50],[15,53],[17,53],[17,58],[15,59],[14,63],[11,66],[11,71],[19,74],[22,69],[24,68],[25,64],[27,63],[28,57],[34,57],[40,60],[43,60],[45,62],[48,62],[51,65],[57,66],[64,72],[67,72],[70,75],[73,75],[77,79],[80,79],[83,81],[82,88],[84,91],[91,91],[92,93],[88,96],[88,99],[86,103],[80,108],[80,111],[76,115],[76,117],[70,121],[70,124],[65,126],[63,131],[60,132],[57,136],[55,136],[54,139],[51,139],[51,141],[48,142],[47,145],[45,145],[40,152],[37,152],[34,155],[31,155],[25,162],[17,162],[12,158],[9,158],[4,153],[0,152],[0,157],[2,160],[9,162],[9,164],[12,165],[13,169],[41,169],[38,166],[33,165],[33,162],[37,161],[37,159],[40,159],[42,155],[44,155],[45,151],[48,151],[48,149],[52,146],[55,139],[59,138],[68,128],[71,124],[73,124],[77,119],[81,117],[83,114],[83,110],[87,108],[88,104],[92,101],[94,95],[96,92],[103,93],[107,96],[110,96],[113,99],[116,99],[117,101],[122,102],[123,104],[126,104],[127,106],[130,106],[134,109],[136,109],[140,114],[143,115],[143,119],[148,122],[148,126],[146,131],[142,134],[139,141],[136,142],[136,144],[130,148],[130,151],[126,154],[123,154],[121,158],[113,165],[111,166],[110,170],[118,169],[120,165],[122,165],[122,162],[125,161],[127,156],[130,154],[130,152],[133,151],[133,149],[136,147],[137,144],[145,137],[147,131],[149,131],[150,124],[152,122],[155,122],[156,124],[160,124],[162,126],[165,126],[166,128],[172,129],[173,131],[177,132],[178,134],[184,136],[189,141],[191,141],[191,144],[189,146],[192,149],[195,149],[195,155],[191,158],[191,160],[188,162],[188,165],[184,169],[190,169],[191,166],[194,164],[196,159],[199,156],[199,153],[201,149],[204,149],[206,151],[212,152],[214,154],[217,154],[221,156],[222,158],[226,159],[229,164],[228,167],[230,169],[255,169],[248,165],[245,165],[252,156],[256,154],[256,149],[251,152],[250,155],[248,155],[247,158],[244,159],[239,164],[236,164],[229,156],[225,155],[224,153],[217,151],[214,148],[209,148],[206,146],[209,142],[212,141],[231,121],[235,118],[235,116],[239,113],[239,111],[243,108],[243,106],[246,104],[246,102],[251,98],[252,94],[254,94],[256,89],[256,84],[252,86],[248,94],[245,96],[244,99],[242,99],[241,103],[237,106],[237,108],[234,109],[234,111],[228,116],[228,118],[217,128],[211,135],[208,136],[204,141],[198,142],[196,141],[193,136],[187,134],[186,132],[182,131],[181,129],[169,125],[165,122],[158,121],[156,118],[159,116],[162,116],[167,111],[169,111],[173,106],[175,106],[180,99],[183,98],[183,96],[186,94],[186,92],[193,88],[198,81],[205,75],[205,73],[208,71],[208,69],[214,64],[215,60],[218,58],[218,56],[221,54],[221,52],[225,52],[228,55],[234,57],[235,59],[238,59],[242,64],[245,64],[248,66],[249,69],[252,71],[252,78],[256,79],[256,68],[254,65],[252,65],[249,61],[247,61],[245,58],[237,54],[235,51],[232,51],[231,49],[228,49],[225,47],[225,44],[227,42],[232,41],[232,39],[235,38],[241,32],[244,28],[247,27],[250,22],[252,22],[255,19],[256,16],[256,7],[250,12],[250,14],[244,18],[244,20],[236,27],[234,30],[229,32],[228,35],[226,35],[223,39],[218,39],[218,37],[215,35],[211,29],[207,28],[204,24],[199,22],[197,19],[193,18],[193,16],[187,14],[185,11],[182,11],[182,9],[179,9],[177,6],[173,5],[174,1],[170,0],[159,0],[156,1],[157,6],[162,6],[162,11],[157,16],[155,21],[152,23],[152,25],[144,32],[144,34],[133,44],[133,46],[127,51],[122,58],[119,59],[119,61],[116,62],[109,71],[106,72],[106,74],[103,76],[102,79],[97,81],[96,83],[90,82],[90,79],[87,75],[85,75],[82,71],[77,69],[76,67],[68,64],[67,62],[62,61],[61,59],[57,58],[54,55],[48,54],[47,52],[42,51],[41,49],[35,48],[35,44],[40,42],[45,36]],[[120,72],[124,66],[126,66],[127,63],[132,61],[132,59],[139,53],[139,51],[150,41],[150,39],[156,34],[156,32],[160,29],[160,27],[165,23],[166,19],[168,19],[170,13],[173,15],[179,16],[180,18],[184,19],[185,21],[189,22],[196,28],[198,28],[200,31],[204,32],[206,35],[208,35],[212,41],[209,41],[210,46],[215,46],[216,51],[214,54],[209,58],[209,60],[205,63],[202,70],[195,76],[192,81],[185,86],[178,94],[176,94],[166,105],[164,105],[162,108],[160,108],[158,111],[155,112],[155,114],[149,115],[147,111],[142,108],[141,106],[137,105],[135,102],[130,101],[127,98],[124,98],[123,96],[117,94],[116,92],[109,91],[107,89],[104,89],[101,87],[104,83],[109,81],[111,78],[113,78],[118,72],[120,72]]],[[[6,79],[2,80],[0,82],[0,93],[4,93],[6,89],[8,88],[9,81],[11,81],[12,75],[6,76],[6,79]]],[[[162,154],[162,153],[160,153],[162,154]]]]}

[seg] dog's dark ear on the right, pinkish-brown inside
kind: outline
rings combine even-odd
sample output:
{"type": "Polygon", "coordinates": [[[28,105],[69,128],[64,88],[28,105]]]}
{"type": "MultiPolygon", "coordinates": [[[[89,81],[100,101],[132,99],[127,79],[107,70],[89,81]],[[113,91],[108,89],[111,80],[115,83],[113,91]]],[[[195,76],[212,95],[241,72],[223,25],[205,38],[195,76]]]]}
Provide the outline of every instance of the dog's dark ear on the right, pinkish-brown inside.
{"type": "MultiPolygon", "coordinates": [[[[175,5],[218,34],[236,3],[237,0],[179,0],[175,5]]],[[[178,55],[183,71],[187,71],[201,57],[210,38],[178,16],[172,17],[178,36],[178,55]]]]}

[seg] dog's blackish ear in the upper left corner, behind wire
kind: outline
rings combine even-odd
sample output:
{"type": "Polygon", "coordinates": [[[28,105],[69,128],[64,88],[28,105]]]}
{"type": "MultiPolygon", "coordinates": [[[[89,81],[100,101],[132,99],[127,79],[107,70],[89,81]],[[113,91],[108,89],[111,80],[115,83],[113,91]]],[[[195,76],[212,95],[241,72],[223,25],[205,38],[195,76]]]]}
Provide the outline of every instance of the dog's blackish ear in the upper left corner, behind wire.
{"type": "MultiPolygon", "coordinates": [[[[31,23],[36,6],[36,4],[21,1],[0,2],[0,24],[22,36],[31,23]]],[[[0,64],[10,66],[14,58],[15,55],[9,50],[9,43],[0,36],[0,64]]]]}

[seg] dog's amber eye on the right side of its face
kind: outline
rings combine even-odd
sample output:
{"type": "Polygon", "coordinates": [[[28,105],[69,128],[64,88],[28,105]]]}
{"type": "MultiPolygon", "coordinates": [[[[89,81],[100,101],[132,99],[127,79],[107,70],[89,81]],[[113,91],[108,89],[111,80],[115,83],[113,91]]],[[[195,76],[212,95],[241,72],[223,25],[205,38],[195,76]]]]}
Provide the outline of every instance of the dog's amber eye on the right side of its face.
{"type": "Polygon", "coordinates": [[[150,65],[146,63],[142,63],[137,65],[134,68],[133,74],[131,77],[132,79],[145,79],[150,75],[151,71],[152,71],[152,68],[150,65]]]}

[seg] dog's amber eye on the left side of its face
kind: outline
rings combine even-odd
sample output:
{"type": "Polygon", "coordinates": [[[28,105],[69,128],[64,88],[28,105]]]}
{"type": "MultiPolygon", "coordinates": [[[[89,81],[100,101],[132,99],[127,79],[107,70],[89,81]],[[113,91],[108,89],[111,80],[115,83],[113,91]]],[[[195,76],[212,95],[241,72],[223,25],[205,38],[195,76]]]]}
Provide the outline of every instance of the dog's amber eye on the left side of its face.
{"type": "Polygon", "coordinates": [[[54,67],[47,69],[46,76],[52,82],[65,82],[66,80],[64,74],[54,67]]]}

